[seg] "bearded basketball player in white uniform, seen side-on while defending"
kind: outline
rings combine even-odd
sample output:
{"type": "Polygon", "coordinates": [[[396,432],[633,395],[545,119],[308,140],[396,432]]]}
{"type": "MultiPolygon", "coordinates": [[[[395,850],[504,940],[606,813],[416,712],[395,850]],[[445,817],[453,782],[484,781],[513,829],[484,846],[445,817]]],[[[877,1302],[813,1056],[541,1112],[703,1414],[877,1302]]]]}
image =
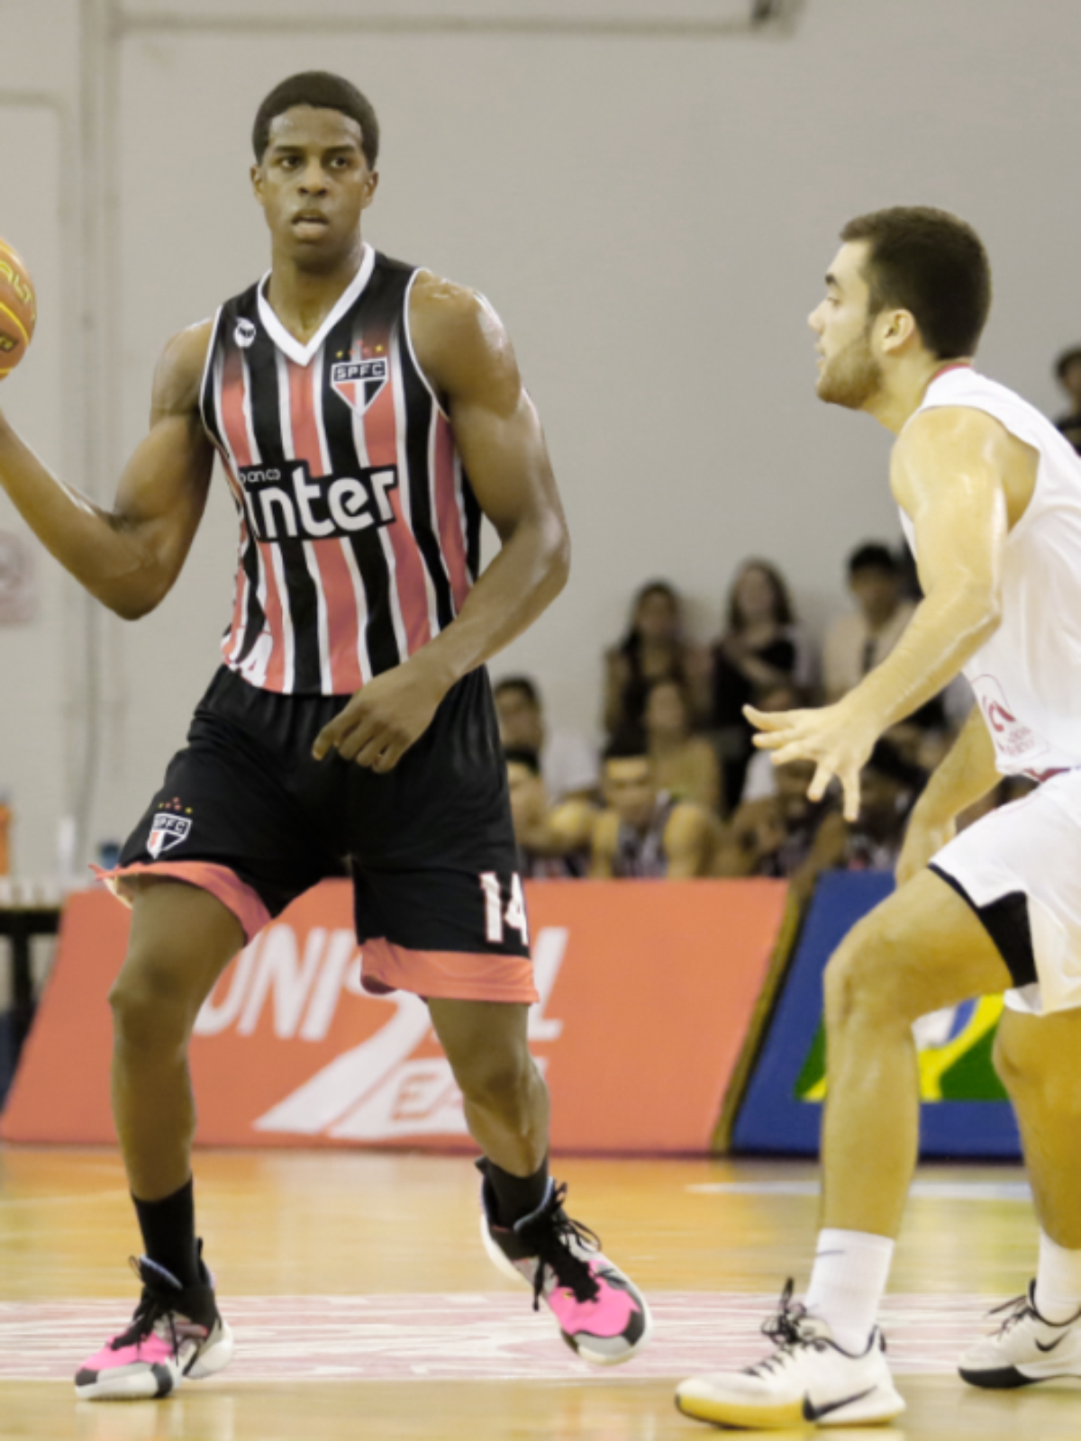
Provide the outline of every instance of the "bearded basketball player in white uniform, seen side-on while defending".
{"type": "Polygon", "coordinates": [[[836,777],[845,814],[875,738],[960,670],[977,705],[920,800],[898,889],[826,973],[823,1229],[777,1350],[677,1391],[729,1427],[859,1425],[904,1411],[875,1317],[917,1160],[912,1022],[1006,993],[996,1066],[1018,1114],[1039,1264],[997,1334],[961,1359],[976,1386],[1081,1376],[1081,461],[1031,405],[973,369],[990,304],[983,245],[924,208],[852,220],[810,317],[823,401],[897,435],[889,481],[924,601],[845,699],[764,715],[775,764],[836,777]],[[1002,774],[1039,788],[954,836],[1002,774]]]}

